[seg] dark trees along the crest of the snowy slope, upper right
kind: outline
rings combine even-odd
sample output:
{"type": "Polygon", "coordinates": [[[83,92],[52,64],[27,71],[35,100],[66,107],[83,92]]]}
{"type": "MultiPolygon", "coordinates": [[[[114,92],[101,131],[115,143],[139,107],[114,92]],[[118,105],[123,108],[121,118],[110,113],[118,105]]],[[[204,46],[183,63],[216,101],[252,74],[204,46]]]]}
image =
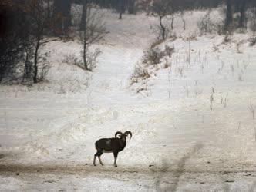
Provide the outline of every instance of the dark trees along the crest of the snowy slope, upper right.
{"type": "MultiPolygon", "coordinates": [[[[248,15],[251,17],[251,30],[256,31],[256,1],[254,0],[143,0],[141,3],[143,3],[148,14],[156,15],[159,18],[159,36],[162,39],[167,38],[168,33],[170,33],[170,29],[163,25],[163,18],[168,15],[171,16],[172,20],[171,29],[173,29],[174,15],[179,14],[184,22],[185,30],[184,11],[211,9],[218,6],[224,7],[224,23],[217,25],[218,34],[231,33],[237,28],[241,28],[244,31],[248,27],[248,15]]],[[[210,24],[205,24],[204,27],[207,27],[207,25],[210,24]]]]}

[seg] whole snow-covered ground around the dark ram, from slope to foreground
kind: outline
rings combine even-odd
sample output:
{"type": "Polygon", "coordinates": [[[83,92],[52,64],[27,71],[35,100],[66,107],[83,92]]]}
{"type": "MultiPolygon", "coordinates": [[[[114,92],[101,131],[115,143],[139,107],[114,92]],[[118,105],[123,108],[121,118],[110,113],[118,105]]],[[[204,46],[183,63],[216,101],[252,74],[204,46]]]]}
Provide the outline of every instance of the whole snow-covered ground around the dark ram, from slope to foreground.
{"type": "Polygon", "coordinates": [[[93,73],[62,63],[79,55],[76,41],[49,44],[49,83],[0,87],[0,190],[256,191],[256,54],[248,35],[187,41],[204,14],[187,13],[187,31],[177,19],[177,40],[160,45],[174,46],[171,67],[132,86],[156,18],[106,12],[93,73]],[[93,167],[96,139],[126,130],[119,167],[112,154],[93,167]]]}

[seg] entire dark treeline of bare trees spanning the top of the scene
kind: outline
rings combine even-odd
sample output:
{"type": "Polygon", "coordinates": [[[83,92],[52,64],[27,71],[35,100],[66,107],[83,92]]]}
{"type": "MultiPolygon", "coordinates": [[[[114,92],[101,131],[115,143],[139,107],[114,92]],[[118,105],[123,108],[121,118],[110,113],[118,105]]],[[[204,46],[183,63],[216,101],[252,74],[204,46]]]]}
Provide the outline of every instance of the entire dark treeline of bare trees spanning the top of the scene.
{"type": "MultiPolygon", "coordinates": [[[[123,13],[145,11],[157,15],[161,38],[167,38],[168,28],[162,19],[182,14],[187,10],[224,6],[224,24],[221,30],[229,33],[236,28],[248,27],[251,12],[251,30],[256,31],[256,1],[254,0],[2,0],[0,2],[0,82],[17,77],[22,81],[42,81],[49,70],[47,55],[42,47],[49,41],[69,38],[72,25],[72,4],[83,7],[79,25],[83,44],[83,68],[92,70],[88,59],[89,46],[106,34],[98,18],[92,18],[90,8],[116,10],[116,18],[123,13]],[[94,23],[93,23],[94,22],[94,23]],[[19,75],[16,75],[19,73],[19,75]],[[22,74],[22,75],[21,75],[22,74]]],[[[184,29],[185,29],[185,20],[184,29]]]]}

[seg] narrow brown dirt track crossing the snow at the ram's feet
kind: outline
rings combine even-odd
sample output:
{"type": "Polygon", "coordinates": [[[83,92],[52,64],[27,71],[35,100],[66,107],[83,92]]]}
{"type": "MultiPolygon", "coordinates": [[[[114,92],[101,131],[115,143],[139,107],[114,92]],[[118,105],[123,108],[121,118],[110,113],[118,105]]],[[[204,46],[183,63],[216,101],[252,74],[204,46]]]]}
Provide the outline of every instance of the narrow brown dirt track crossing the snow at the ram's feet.
{"type": "Polygon", "coordinates": [[[57,174],[59,172],[69,173],[69,174],[78,174],[78,173],[140,173],[140,174],[157,174],[157,173],[190,173],[190,174],[237,174],[237,173],[256,173],[256,170],[253,168],[247,169],[236,169],[231,170],[229,168],[220,170],[216,168],[216,170],[205,170],[204,167],[202,169],[197,170],[193,167],[188,168],[187,170],[183,167],[180,168],[170,168],[170,167],[154,167],[150,165],[150,167],[113,167],[112,165],[101,166],[98,165],[94,167],[93,165],[59,165],[59,164],[35,164],[35,165],[22,165],[22,164],[0,164],[0,174],[5,172],[16,173],[16,172],[24,172],[24,173],[45,173],[45,174],[57,174]]]}

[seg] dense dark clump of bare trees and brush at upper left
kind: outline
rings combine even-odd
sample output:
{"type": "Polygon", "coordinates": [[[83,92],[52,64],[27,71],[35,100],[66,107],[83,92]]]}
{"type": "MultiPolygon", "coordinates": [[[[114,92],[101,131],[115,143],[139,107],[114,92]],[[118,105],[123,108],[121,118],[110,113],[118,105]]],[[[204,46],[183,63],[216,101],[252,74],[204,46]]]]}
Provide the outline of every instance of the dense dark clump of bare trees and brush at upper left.
{"type": "Polygon", "coordinates": [[[40,48],[65,35],[56,25],[65,16],[54,13],[52,5],[39,0],[3,0],[0,2],[0,81],[23,74],[22,81],[42,81],[48,70],[40,48]]]}

